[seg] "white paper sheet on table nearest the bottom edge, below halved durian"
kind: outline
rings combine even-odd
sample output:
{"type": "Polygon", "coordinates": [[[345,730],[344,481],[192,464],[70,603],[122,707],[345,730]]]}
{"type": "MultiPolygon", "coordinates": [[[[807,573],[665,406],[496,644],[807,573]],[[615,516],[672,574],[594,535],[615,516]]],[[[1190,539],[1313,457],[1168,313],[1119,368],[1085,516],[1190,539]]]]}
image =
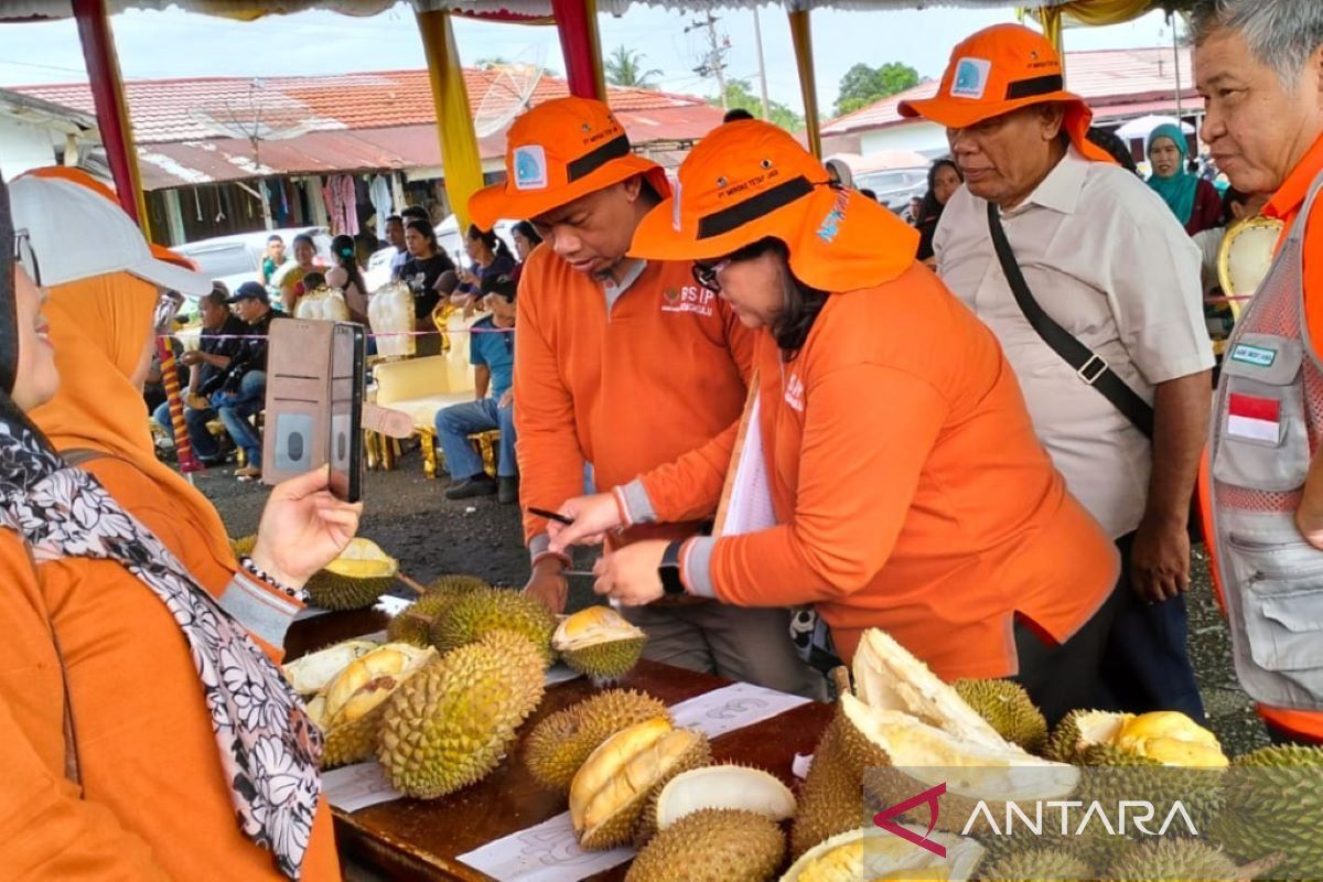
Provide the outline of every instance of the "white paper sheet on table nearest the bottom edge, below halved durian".
{"type": "Polygon", "coordinates": [[[564,812],[519,833],[488,842],[459,860],[501,882],[578,882],[634,857],[631,848],[585,852],[564,812]]]}

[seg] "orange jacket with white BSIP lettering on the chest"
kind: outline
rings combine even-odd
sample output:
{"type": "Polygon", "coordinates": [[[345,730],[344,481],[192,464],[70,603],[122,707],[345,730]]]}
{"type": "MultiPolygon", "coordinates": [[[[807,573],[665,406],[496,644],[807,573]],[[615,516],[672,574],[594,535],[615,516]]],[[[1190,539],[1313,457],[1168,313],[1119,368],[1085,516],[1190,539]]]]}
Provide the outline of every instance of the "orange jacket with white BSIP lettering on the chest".
{"type": "MultiPolygon", "coordinates": [[[[517,304],[515,427],[525,508],[556,510],[582,495],[585,461],[598,487],[614,487],[740,418],[754,335],[699,288],[688,263],[648,263],[607,311],[599,282],[538,247],[524,263],[517,304]]],[[[545,529],[525,516],[527,540],[545,529]]],[[[624,541],[692,532],[692,522],[643,526],[624,541]]]]}

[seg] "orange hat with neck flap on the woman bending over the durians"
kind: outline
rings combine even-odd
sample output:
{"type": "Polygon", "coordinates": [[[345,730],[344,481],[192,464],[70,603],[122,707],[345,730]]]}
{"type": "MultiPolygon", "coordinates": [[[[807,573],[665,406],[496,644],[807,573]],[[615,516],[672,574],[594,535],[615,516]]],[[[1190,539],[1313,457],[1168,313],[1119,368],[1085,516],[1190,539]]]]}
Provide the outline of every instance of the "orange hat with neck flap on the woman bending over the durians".
{"type": "Polygon", "coordinates": [[[675,196],[648,212],[631,257],[721,258],[781,239],[790,268],[822,291],[894,279],[914,263],[918,231],[857,190],[832,186],[827,169],[782,128],[726,123],[680,165],[675,196]]]}

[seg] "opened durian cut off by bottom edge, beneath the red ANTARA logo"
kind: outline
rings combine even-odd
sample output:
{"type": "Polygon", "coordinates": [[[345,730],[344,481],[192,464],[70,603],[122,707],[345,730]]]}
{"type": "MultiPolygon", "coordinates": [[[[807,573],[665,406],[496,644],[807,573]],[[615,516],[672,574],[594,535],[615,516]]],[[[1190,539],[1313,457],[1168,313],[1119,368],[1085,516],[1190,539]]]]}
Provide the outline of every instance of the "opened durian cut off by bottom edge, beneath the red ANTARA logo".
{"type": "Polygon", "coordinates": [[[905,824],[918,836],[946,849],[938,857],[880,828],[863,828],[833,836],[802,854],[781,882],[860,882],[869,879],[968,879],[983,858],[983,846],[971,838],[927,832],[905,824]]]}

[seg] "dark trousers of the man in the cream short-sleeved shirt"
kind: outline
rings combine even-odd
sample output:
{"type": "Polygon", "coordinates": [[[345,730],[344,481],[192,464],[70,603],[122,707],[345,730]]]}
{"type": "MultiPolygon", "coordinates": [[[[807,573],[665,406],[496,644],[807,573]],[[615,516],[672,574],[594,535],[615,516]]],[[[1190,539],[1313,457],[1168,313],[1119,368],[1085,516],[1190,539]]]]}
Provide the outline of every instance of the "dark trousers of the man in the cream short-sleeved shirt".
{"type": "Polygon", "coordinates": [[[1134,540],[1134,533],[1117,540],[1121,550],[1119,603],[1102,659],[1098,706],[1134,714],[1179,710],[1203,723],[1204,702],[1185,648],[1189,632],[1185,595],[1148,603],[1134,592],[1130,584],[1134,540]]]}

